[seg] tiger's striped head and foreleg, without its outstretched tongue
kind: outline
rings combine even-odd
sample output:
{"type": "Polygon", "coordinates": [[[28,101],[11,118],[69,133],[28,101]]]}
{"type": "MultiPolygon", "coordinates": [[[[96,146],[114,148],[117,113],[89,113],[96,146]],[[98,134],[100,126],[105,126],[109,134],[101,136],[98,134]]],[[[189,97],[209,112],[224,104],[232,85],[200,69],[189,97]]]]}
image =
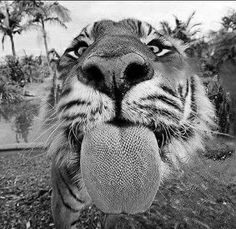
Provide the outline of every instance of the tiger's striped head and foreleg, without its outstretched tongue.
{"type": "Polygon", "coordinates": [[[187,48],[147,22],[124,19],[86,26],[65,50],[49,147],[56,229],[76,228],[81,211],[93,204],[80,160],[85,134],[98,125],[148,128],[160,149],[161,182],[204,150],[215,111],[187,48]]]}

